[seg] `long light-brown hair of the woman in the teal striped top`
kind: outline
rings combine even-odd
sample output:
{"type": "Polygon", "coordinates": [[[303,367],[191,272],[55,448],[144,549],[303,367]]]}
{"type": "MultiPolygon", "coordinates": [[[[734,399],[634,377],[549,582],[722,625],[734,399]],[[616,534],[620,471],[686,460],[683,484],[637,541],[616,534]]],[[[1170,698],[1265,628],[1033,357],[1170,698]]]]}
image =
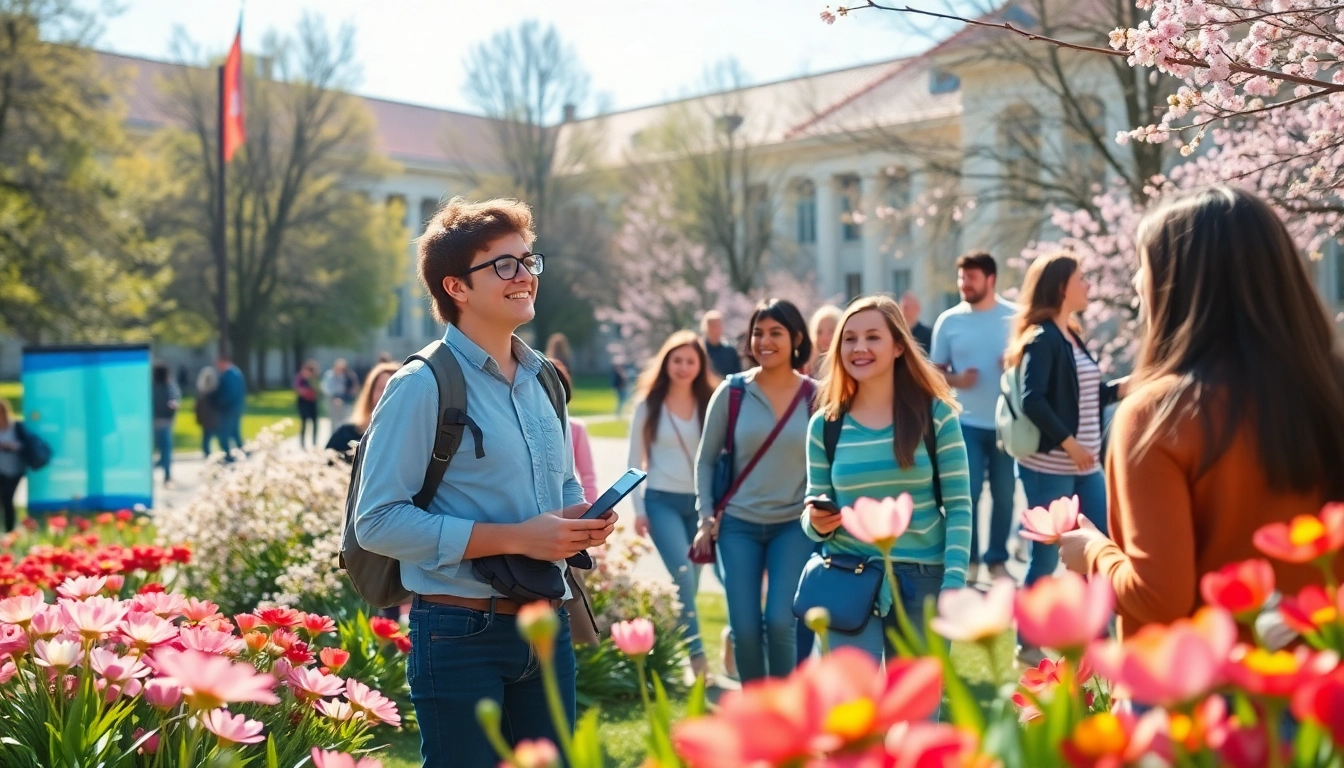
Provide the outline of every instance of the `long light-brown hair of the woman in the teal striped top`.
{"type": "Polygon", "coordinates": [[[887,321],[891,338],[905,350],[895,363],[895,391],[891,398],[892,448],[896,465],[909,469],[915,463],[915,449],[923,443],[925,432],[931,418],[929,409],[934,398],[946,402],[953,410],[961,410],[946,379],[925,359],[919,343],[910,335],[906,316],[900,305],[890,296],[864,296],[855,300],[844,311],[836,325],[827,352],[827,371],[817,391],[817,409],[825,413],[828,421],[844,417],[859,391],[859,382],[849,375],[840,355],[844,327],[859,312],[879,312],[887,321]]]}

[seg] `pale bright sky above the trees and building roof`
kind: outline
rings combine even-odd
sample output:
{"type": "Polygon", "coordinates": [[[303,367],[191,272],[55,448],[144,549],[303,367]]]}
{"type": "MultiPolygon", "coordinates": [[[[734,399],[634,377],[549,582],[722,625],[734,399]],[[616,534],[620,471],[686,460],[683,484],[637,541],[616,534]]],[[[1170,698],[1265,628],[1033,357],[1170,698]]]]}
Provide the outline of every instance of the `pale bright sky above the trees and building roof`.
{"type": "MultiPolygon", "coordinates": [[[[237,0],[118,5],[120,13],[102,19],[98,47],[157,59],[169,58],[177,26],[204,50],[222,52],[241,7],[237,0]]],[[[728,56],[753,82],[766,82],[930,44],[886,12],[825,26],[823,7],[817,0],[254,0],[245,8],[243,47],[257,50],[267,28],[288,31],[305,11],[319,11],[333,27],[356,28],[359,93],[473,112],[462,95],[464,54],[524,19],[556,26],[613,109],[685,95],[706,67],[728,56]]]]}

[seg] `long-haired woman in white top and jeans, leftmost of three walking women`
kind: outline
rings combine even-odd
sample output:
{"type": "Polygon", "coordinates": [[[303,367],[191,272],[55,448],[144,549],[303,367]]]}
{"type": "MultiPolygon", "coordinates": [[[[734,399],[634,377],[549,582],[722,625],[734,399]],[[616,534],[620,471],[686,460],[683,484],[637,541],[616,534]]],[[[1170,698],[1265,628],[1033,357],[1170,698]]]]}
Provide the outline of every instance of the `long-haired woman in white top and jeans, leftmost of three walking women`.
{"type": "Polygon", "coordinates": [[[695,451],[704,430],[704,416],[718,381],[710,374],[710,359],[700,339],[691,331],[668,336],[636,386],[634,417],[630,420],[629,467],[649,473],[642,488],[632,494],[634,533],[652,537],[663,565],[676,582],[681,601],[681,628],[696,675],[708,671],[695,596],[700,586],[700,566],[687,551],[695,539],[695,451]],[[642,490],[642,492],[641,492],[642,490]]]}

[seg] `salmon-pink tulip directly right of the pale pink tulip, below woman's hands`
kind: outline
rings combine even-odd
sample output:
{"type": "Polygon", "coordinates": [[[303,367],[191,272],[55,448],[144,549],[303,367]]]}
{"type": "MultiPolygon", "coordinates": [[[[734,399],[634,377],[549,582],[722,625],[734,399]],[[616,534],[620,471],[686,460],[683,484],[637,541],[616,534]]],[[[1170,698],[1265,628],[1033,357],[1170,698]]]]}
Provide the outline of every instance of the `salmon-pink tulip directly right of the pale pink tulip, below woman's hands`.
{"type": "Polygon", "coordinates": [[[1083,648],[1106,629],[1114,603],[1105,578],[1087,581],[1073,572],[1046,577],[1017,593],[1017,632],[1032,646],[1083,648]]]}

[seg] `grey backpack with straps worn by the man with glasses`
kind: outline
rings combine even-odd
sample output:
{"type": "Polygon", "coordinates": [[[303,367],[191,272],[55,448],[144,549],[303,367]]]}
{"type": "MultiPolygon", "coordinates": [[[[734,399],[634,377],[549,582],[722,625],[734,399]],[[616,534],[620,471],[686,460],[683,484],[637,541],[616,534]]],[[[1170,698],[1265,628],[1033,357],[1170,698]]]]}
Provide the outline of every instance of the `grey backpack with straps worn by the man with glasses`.
{"type": "MultiPolygon", "coordinates": [[[[429,508],[438,491],[438,484],[448,472],[448,465],[462,444],[462,433],[470,429],[476,440],[476,457],[485,457],[485,443],[481,429],[466,416],[466,381],[462,367],[453,350],[442,340],[430,342],[423,350],[406,358],[423,362],[438,383],[438,429],[434,433],[434,451],[425,469],[425,483],[411,499],[417,507],[429,508]]],[[[546,394],[551,398],[555,416],[560,418],[560,434],[569,432],[564,413],[564,386],[550,360],[542,358],[542,374],[538,377],[546,394]]],[[[359,471],[364,463],[364,440],[355,449],[355,463],[351,467],[349,491],[345,495],[345,525],[340,541],[340,568],[349,576],[355,592],[374,608],[391,608],[410,600],[411,593],[402,585],[401,561],[368,551],[359,546],[355,538],[355,502],[359,498],[359,471]]]]}

